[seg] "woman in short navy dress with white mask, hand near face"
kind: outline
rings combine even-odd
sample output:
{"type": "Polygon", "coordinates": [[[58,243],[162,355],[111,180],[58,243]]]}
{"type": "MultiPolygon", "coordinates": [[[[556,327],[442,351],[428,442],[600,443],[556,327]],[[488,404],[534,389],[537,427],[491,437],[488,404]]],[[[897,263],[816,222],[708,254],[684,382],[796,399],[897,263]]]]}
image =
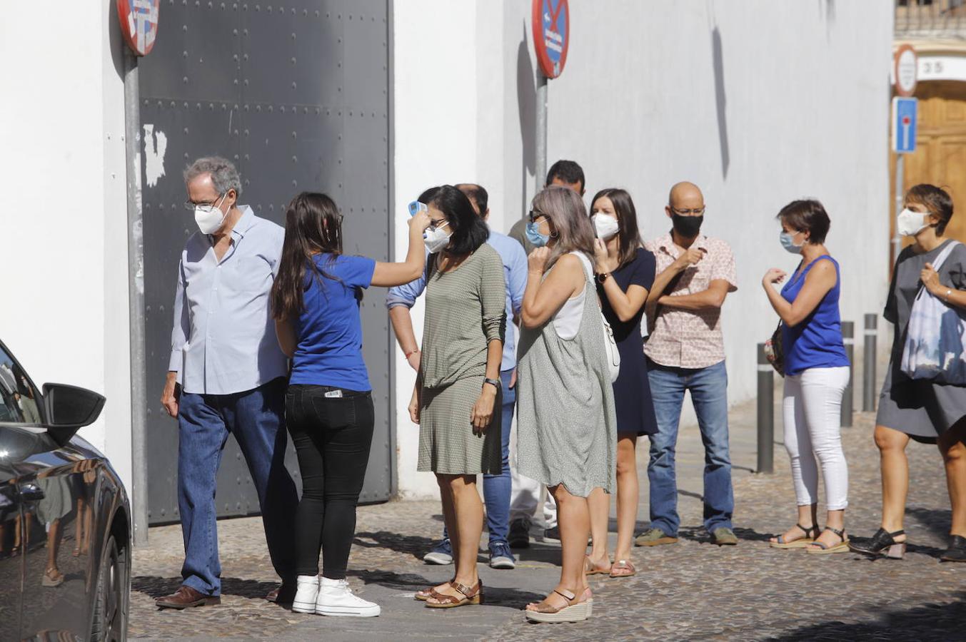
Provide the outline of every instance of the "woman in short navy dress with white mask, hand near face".
{"type": "Polygon", "coordinates": [[[640,435],[657,432],[640,336],[644,302],[654,284],[655,260],[641,247],[638,214],[625,190],[597,192],[591,202],[591,218],[597,232],[597,293],[620,352],[620,374],[613,383],[617,410],[617,547],[611,564],[607,539],[611,500],[603,488],[595,488],[588,498],[593,549],[585,567],[588,574],[630,577],[636,572],[631,563],[639,494],[635,447],[640,435]]]}

